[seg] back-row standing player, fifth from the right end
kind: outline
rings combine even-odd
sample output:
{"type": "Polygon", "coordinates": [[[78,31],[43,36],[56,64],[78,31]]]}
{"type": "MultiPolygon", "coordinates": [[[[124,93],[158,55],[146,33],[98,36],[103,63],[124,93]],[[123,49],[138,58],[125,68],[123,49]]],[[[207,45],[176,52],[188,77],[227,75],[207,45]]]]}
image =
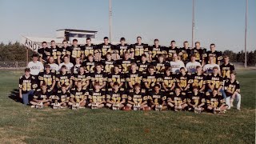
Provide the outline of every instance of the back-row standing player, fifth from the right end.
{"type": "Polygon", "coordinates": [[[158,39],[154,39],[154,45],[149,47],[150,62],[158,60],[158,54],[166,55],[166,48],[159,45],[158,39]]]}

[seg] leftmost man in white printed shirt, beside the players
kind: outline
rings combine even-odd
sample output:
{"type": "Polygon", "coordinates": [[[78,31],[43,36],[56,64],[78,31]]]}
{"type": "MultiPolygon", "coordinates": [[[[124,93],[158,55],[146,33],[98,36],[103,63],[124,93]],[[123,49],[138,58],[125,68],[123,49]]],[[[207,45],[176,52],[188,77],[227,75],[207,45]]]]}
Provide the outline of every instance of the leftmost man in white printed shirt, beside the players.
{"type": "Polygon", "coordinates": [[[38,76],[39,72],[44,69],[42,62],[38,61],[38,54],[32,55],[32,62],[29,62],[27,67],[30,68],[30,74],[34,76],[38,76]]]}

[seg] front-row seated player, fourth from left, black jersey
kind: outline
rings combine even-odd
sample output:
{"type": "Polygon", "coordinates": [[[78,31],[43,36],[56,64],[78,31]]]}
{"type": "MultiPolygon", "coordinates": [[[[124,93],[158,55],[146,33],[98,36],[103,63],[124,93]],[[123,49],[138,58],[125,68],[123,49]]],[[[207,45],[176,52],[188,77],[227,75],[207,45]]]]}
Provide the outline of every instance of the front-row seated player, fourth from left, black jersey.
{"type": "Polygon", "coordinates": [[[91,109],[99,109],[105,106],[105,91],[100,90],[100,84],[95,82],[95,90],[91,91],[89,94],[89,104],[91,109]]]}

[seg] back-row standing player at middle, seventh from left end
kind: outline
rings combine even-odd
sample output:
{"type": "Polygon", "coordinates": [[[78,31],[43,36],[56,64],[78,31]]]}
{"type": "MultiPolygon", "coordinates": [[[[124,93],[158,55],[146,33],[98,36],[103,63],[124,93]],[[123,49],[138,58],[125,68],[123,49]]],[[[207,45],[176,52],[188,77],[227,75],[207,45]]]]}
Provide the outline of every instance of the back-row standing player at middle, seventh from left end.
{"type": "Polygon", "coordinates": [[[130,53],[130,46],[126,44],[126,38],[120,38],[120,44],[115,46],[114,50],[116,50],[116,53],[117,53],[116,59],[120,59],[120,58],[123,59],[125,57],[126,51],[130,53]]]}

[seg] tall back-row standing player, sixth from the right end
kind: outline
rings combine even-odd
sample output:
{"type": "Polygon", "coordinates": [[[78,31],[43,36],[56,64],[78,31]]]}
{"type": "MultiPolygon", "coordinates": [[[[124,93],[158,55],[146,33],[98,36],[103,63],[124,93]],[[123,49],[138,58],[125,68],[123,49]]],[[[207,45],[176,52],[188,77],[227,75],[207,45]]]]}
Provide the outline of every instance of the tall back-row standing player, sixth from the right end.
{"type": "Polygon", "coordinates": [[[131,45],[131,53],[132,57],[136,61],[139,61],[142,57],[142,54],[148,55],[148,45],[142,43],[142,37],[138,36],[137,37],[137,43],[131,45]]]}

